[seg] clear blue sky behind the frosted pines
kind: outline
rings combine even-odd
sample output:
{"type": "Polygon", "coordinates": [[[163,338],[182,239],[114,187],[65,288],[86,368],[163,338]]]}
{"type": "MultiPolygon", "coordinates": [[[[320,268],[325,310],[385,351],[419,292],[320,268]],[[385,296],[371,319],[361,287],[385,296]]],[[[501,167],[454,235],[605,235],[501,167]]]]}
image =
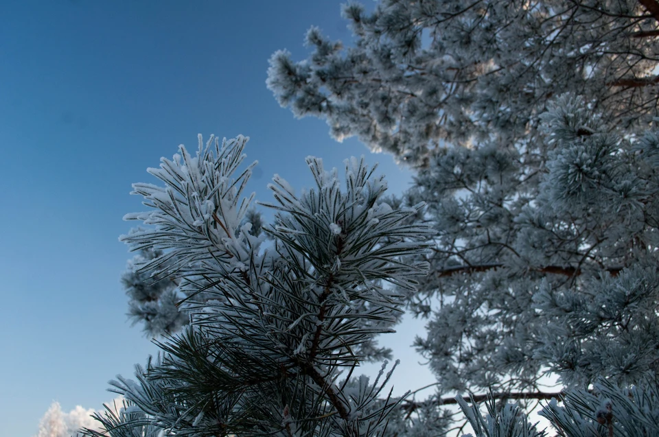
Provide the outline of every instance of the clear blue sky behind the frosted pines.
{"type": "MultiPolygon", "coordinates": [[[[310,185],[310,154],[327,166],[367,154],[393,191],[408,186],[411,175],[391,156],[336,143],[323,121],[294,119],[266,88],[270,55],[288,49],[303,58],[310,25],[350,39],[339,4],[3,2],[1,435],[36,434],[54,400],[65,411],[100,408],[113,398],[107,381],[132,375],[156,351],[127,322],[119,274],[130,255],[117,237],[130,228],[122,216],[142,210],[130,184],[154,182],[146,167],[178,144],[195,150],[198,132],[251,137],[248,160],[260,162],[251,189],[260,200],[270,200],[274,173],[310,185]]],[[[397,381],[408,387],[428,377],[407,346],[412,338],[409,331],[395,349],[404,362],[397,381]]]]}

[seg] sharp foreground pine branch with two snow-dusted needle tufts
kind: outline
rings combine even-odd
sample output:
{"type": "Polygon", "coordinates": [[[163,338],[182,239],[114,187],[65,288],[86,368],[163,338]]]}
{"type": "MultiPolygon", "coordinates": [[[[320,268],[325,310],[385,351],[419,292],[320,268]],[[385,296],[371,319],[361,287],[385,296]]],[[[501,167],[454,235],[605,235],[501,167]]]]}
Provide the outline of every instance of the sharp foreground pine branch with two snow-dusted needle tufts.
{"type": "Polygon", "coordinates": [[[382,391],[395,366],[375,379],[356,370],[427,270],[415,259],[432,228],[411,220],[422,204],[382,202],[386,182],[363,159],[346,161],[341,189],[310,157],[316,186],[296,194],[275,176],[275,222],[256,235],[242,196],[255,164],[236,176],[246,141],[200,137],[196,155],[181,146],[148,170],[163,185],[133,185],[150,208],[125,217],[145,225],[122,237],[148,254],[135,274],[165,281],[150,285],[161,294],[174,283],[188,323],[135,380],[111,383],[126,405],[97,414],[106,431],[88,435],[384,434],[400,403],[382,391]]]}

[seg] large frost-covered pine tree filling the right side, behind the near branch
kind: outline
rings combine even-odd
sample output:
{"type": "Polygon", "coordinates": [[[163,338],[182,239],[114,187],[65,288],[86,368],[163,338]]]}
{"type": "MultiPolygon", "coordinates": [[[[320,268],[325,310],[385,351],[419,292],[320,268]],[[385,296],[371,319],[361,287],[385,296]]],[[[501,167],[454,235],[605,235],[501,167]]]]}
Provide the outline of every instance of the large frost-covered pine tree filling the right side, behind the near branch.
{"type": "Polygon", "coordinates": [[[382,0],[270,59],[295,116],[417,170],[438,237],[407,305],[438,391],[408,411],[659,371],[659,3],[382,0]],[[448,395],[448,397],[447,397],[448,395]]]}

